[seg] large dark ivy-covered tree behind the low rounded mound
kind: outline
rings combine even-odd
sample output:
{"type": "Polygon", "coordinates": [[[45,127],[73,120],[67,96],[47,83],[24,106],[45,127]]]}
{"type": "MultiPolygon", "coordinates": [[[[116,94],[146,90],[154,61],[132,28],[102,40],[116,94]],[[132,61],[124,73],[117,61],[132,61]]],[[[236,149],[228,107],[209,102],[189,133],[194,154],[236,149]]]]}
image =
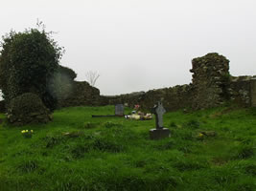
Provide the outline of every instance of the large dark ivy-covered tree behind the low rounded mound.
{"type": "Polygon", "coordinates": [[[52,78],[58,71],[63,51],[50,34],[44,29],[30,29],[3,36],[0,89],[7,106],[16,96],[34,93],[50,110],[56,107],[52,78]]]}

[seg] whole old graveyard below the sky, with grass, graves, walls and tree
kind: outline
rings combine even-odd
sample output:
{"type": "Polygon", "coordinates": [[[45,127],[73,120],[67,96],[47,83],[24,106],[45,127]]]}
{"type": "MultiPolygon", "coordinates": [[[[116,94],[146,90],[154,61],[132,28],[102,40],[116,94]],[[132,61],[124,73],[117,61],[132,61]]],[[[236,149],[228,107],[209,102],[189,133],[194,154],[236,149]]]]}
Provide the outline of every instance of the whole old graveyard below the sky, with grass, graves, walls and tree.
{"type": "Polygon", "coordinates": [[[225,56],[193,58],[189,84],[103,96],[44,29],[1,43],[0,191],[256,190],[256,75],[225,56]]]}

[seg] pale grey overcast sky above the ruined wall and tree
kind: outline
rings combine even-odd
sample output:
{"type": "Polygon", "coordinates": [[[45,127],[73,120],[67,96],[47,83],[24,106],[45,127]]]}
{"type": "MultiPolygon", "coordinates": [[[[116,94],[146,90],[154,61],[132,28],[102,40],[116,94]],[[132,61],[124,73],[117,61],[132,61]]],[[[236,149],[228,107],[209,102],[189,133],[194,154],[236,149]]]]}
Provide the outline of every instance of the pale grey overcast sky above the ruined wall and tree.
{"type": "Polygon", "coordinates": [[[0,35],[38,18],[77,80],[102,95],[188,84],[191,60],[221,53],[232,75],[256,74],[256,0],[0,0],[0,35]]]}

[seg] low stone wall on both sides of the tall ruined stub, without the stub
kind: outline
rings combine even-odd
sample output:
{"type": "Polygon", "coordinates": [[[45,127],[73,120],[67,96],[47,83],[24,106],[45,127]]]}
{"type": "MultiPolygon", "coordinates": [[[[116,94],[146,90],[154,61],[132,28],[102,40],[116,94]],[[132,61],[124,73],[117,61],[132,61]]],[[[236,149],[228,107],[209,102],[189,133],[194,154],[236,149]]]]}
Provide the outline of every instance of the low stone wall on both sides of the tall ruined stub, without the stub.
{"type": "MultiPolygon", "coordinates": [[[[149,92],[141,92],[138,95],[127,94],[121,96],[102,96],[105,99],[104,105],[115,105],[119,103],[126,104],[128,107],[134,107],[135,104],[140,104],[143,109],[150,110],[151,107],[158,101],[161,100],[167,111],[176,111],[179,109],[205,109],[215,107],[223,104],[225,101],[231,100],[236,102],[242,107],[256,107],[256,78],[253,81],[254,93],[251,93],[251,79],[253,76],[238,76],[232,77],[229,84],[227,84],[227,96],[222,96],[218,100],[220,102],[207,103],[203,105],[203,101],[199,102],[200,99],[195,99],[195,87],[193,84],[175,86],[165,89],[156,89],[149,92]],[[198,101],[198,102],[197,102],[198,101]],[[214,104],[214,105],[213,105],[214,104]],[[254,104],[254,105],[253,105],[254,104]],[[200,107],[198,107],[200,105],[200,107]],[[196,106],[196,107],[195,107],[196,106]],[[203,106],[203,107],[202,107],[203,106]]],[[[226,84],[225,84],[226,85],[226,84]]],[[[209,91],[209,90],[208,90],[209,91]]],[[[205,92],[202,92],[205,94],[205,92]]],[[[206,98],[208,98],[206,96],[206,98]]]]}

